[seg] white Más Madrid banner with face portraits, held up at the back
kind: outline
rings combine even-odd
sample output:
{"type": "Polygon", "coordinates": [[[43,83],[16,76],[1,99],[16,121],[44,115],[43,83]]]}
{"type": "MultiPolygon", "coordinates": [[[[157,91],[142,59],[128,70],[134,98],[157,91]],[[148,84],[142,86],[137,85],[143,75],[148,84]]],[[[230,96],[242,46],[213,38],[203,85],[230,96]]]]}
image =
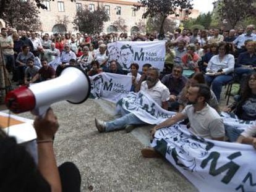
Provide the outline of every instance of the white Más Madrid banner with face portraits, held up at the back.
{"type": "Polygon", "coordinates": [[[123,70],[130,70],[130,64],[144,64],[163,70],[166,41],[116,41],[108,44],[108,61],[117,61],[123,70]]]}

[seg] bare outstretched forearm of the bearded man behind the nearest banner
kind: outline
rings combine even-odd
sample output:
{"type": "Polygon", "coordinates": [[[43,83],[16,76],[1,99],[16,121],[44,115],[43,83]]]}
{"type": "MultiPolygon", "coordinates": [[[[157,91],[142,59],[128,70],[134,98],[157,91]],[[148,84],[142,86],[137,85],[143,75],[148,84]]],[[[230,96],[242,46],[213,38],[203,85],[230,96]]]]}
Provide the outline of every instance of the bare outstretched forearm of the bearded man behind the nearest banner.
{"type": "Polygon", "coordinates": [[[173,117],[165,120],[163,123],[160,123],[159,125],[156,125],[155,127],[153,127],[150,132],[151,132],[151,136],[153,137],[155,135],[156,130],[160,129],[160,128],[164,128],[164,127],[168,127],[171,125],[174,125],[175,123],[186,119],[187,116],[183,113],[177,113],[176,115],[174,115],[173,117]]]}

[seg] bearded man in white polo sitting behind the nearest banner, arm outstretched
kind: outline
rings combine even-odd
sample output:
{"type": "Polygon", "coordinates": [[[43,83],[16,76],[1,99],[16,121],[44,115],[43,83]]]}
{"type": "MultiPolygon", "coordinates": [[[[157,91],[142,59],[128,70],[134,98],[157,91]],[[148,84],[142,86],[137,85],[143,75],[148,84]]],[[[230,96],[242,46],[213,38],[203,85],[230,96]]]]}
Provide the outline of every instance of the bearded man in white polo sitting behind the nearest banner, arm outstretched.
{"type": "MultiPolygon", "coordinates": [[[[218,112],[207,104],[210,96],[211,91],[207,85],[190,86],[186,95],[189,105],[182,112],[153,127],[150,130],[151,136],[155,135],[156,130],[170,127],[188,118],[190,133],[210,140],[223,141],[225,135],[224,123],[218,112]]],[[[142,149],[142,156],[148,158],[161,157],[153,148],[142,149]]]]}

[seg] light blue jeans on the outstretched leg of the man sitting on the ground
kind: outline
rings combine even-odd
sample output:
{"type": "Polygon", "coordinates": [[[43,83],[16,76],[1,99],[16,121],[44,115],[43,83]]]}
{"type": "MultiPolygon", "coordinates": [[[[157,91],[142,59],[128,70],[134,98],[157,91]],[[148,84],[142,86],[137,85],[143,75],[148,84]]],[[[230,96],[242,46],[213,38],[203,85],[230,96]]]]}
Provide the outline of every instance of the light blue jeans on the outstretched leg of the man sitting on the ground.
{"type": "Polygon", "coordinates": [[[106,123],[106,128],[105,131],[114,131],[114,130],[121,130],[123,129],[126,125],[143,125],[147,124],[140,120],[136,115],[125,111],[124,109],[121,110],[122,117],[115,119],[111,122],[106,123]]]}

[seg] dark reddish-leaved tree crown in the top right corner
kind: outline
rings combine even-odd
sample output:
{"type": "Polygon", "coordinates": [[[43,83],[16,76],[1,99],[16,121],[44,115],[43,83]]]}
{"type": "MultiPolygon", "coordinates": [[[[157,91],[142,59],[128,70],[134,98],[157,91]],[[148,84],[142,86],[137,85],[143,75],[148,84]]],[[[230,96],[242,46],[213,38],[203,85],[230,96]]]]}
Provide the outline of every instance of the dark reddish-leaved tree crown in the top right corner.
{"type": "Polygon", "coordinates": [[[218,8],[221,21],[228,22],[231,28],[236,27],[237,23],[249,17],[255,17],[255,0],[219,0],[214,4],[218,8]]]}

